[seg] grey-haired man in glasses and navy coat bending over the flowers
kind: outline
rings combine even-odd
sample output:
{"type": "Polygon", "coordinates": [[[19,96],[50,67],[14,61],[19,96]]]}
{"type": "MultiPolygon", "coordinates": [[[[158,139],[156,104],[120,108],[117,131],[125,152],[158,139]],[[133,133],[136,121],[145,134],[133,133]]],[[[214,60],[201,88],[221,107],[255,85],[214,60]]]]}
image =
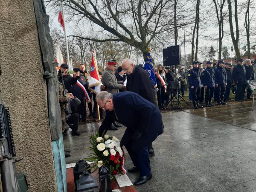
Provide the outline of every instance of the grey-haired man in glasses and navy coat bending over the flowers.
{"type": "Polygon", "coordinates": [[[127,149],[134,166],[128,172],[140,172],[135,185],[142,185],[152,178],[148,145],[163,133],[162,115],[156,105],[130,91],[112,95],[102,91],[96,96],[97,104],[107,115],[99,134],[118,121],[127,127],[120,145],[127,149]]]}

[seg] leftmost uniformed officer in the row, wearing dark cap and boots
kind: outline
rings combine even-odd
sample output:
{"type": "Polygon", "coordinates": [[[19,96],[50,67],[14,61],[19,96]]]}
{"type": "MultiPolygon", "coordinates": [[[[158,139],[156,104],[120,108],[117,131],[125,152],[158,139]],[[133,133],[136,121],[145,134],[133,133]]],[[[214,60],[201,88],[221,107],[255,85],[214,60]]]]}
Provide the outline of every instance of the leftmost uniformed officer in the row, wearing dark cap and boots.
{"type": "Polygon", "coordinates": [[[199,72],[198,69],[198,61],[193,62],[193,69],[189,71],[188,74],[188,79],[189,79],[189,86],[191,88],[191,93],[192,93],[192,102],[194,105],[195,109],[198,108],[203,108],[199,104],[200,100],[200,93],[201,93],[201,73],[199,72]]]}

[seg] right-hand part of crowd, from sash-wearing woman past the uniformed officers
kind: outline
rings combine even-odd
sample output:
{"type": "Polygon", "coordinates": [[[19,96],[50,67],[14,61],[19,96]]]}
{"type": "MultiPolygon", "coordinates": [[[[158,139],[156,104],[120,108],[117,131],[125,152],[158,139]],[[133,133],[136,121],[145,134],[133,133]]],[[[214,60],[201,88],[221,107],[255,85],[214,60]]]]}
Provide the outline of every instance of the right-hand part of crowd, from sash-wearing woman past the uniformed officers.
{"type": "Polygon", "coordinates": [[[185,71],[182,66],[166,66],[164,69],[159,64],[155,73],[159,109],[165,109],[177,93],[184,96],[187,88],[189,102],[197,109],[204,106],[226,105],[230,91],[236,95],[235,101],[242,101],[245,92],[247,99],[252,99],[252,91],[247,88],[247,81],[254,80],[256,65],[250,59],[239,59],[237,64],[227,63],[221,59],[215,63],[207,61],[205,66],[202,62],[194,61],[185,71]]]}

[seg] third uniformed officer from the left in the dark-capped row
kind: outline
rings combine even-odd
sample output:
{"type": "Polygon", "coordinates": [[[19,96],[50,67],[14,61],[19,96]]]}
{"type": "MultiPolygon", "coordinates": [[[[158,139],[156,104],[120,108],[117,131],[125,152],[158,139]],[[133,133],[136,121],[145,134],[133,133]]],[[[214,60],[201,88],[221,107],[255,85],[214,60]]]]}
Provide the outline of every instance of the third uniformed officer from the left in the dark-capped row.
{"type": "Polygon", "coordinates": [[[215,69],[215,87],[216,87],[216,96],[217,105],[226,105],[227,103],[224,102],[224,93],[226,91],[227,85],[227,72],[223,68],[224,61],[219,59],[217,68],[215,69]]]}

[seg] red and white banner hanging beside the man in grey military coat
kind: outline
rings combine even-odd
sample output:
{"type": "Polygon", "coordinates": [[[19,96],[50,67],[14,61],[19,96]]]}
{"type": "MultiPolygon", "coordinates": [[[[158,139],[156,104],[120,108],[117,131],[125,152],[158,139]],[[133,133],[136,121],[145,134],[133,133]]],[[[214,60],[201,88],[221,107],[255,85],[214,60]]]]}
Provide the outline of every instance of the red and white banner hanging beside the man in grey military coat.
{"type": "Polygon", "coordinates": [[[95,50],[92,51],[92,62],[90,67],[90,78],[89,78],[89,90],[93,93],[98,94],[100,92],[100,86],[102,82],[99,78],[99,71],[96,59],[96,52],[95,50]]]}

